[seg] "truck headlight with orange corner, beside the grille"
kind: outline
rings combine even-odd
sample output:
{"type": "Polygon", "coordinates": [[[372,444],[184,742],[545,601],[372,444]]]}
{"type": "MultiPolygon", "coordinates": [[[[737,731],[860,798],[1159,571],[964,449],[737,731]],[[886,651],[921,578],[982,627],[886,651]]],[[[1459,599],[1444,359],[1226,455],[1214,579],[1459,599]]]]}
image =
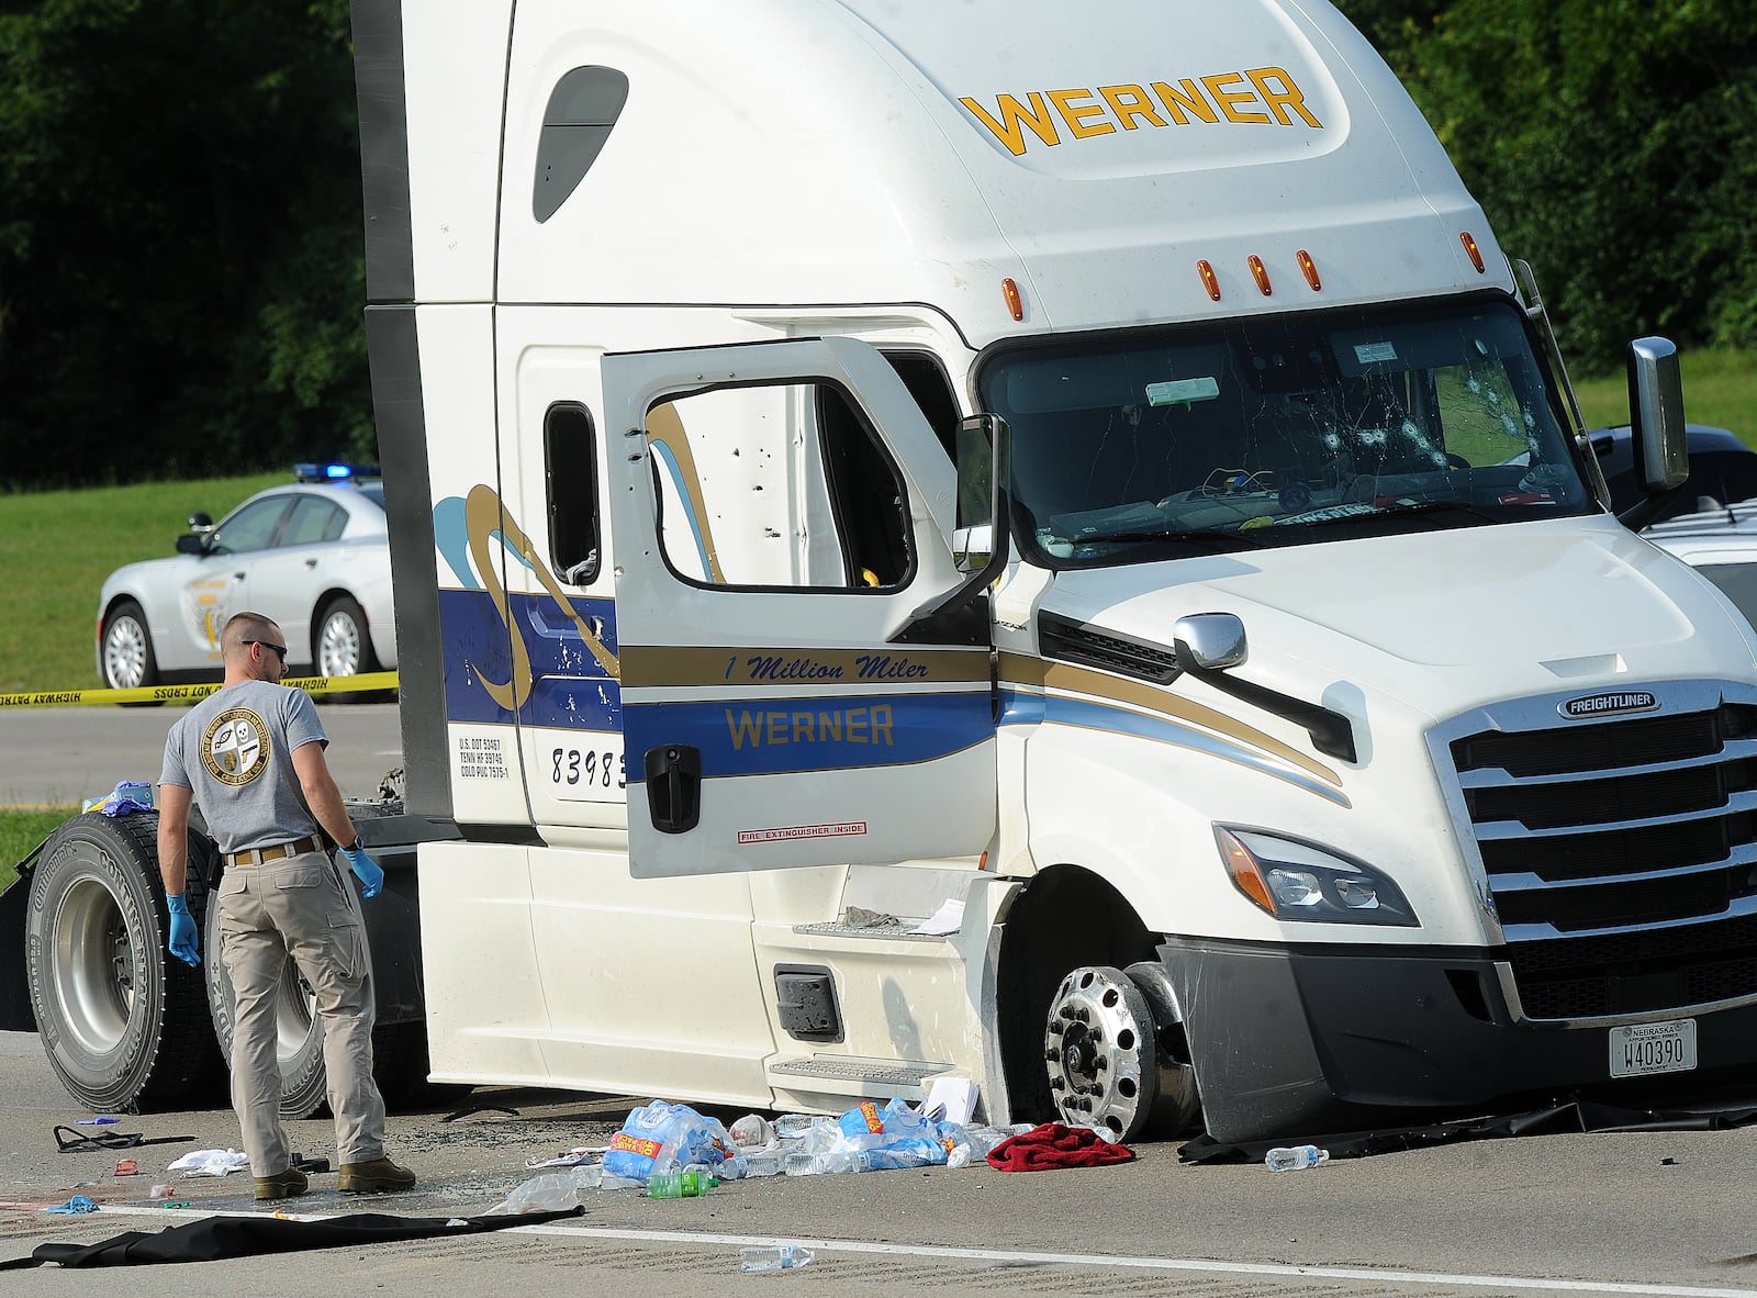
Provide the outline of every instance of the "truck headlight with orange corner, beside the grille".
{"type": "Polygon", "coordinates": [[[1214,841],[1233,887],[1276,919],[1420,924],[1402,891],[1372,866],[1256,829],[1214,826],[1214,841]]]}

